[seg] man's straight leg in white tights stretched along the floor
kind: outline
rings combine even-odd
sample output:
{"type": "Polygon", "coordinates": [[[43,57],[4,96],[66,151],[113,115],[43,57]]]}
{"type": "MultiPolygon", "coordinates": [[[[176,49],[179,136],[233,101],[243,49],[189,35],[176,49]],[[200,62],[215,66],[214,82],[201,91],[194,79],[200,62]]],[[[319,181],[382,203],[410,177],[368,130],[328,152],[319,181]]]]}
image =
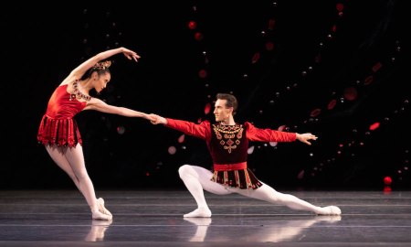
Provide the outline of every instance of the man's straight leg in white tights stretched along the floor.
{"type": "Polygon", "coordinates": [[[290,209],[306,210],[306,211],[311,211],[311,212],[314,212],[320,215],[340,215],[341,214],[341,209],[339,209],[336,206],[317,207],[293,195],[279,193],[274,188],[270,188],[267,184],[264,184],[264,183],[262,187],[257,188],[257,189],[230,188],[230,191],[236,192],[238,194],[241,194],[249,198],[261,199],[261,200],[268,201],[270,203],[284,205],[284,206],[289,207],[290,209]]]}

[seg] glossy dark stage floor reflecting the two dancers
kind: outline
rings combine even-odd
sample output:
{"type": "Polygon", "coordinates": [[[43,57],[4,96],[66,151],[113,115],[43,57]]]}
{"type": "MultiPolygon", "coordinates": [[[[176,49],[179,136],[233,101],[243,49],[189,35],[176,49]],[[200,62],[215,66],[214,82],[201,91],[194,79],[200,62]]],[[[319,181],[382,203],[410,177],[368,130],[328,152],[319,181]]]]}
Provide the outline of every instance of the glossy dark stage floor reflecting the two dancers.
{"type": "Polygon", "coordinates": [[[113,220],[91,220],[76,190],[0,191],[0,246],[411,246],[411,191],[280,191],[342,216],[316,216],[239,195],[205,192],[213,216],[186,190],[105,190],[113,220]]]}

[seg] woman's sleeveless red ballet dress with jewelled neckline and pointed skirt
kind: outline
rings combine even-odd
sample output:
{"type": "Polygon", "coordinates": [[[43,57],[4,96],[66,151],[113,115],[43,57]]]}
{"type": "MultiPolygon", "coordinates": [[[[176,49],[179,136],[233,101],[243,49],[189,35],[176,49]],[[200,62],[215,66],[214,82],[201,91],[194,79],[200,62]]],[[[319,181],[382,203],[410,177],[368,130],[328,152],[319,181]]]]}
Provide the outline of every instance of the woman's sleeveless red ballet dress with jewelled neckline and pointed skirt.
{"type": "Polygon", "coordinates": [[[37,133],[37,141],[43,145],[82,145],[74,116],[86,107],[87,102],[79,102],[76,94],[68,93],[67,88],[67,84],[59,86],[48,101],[37,133]]]}

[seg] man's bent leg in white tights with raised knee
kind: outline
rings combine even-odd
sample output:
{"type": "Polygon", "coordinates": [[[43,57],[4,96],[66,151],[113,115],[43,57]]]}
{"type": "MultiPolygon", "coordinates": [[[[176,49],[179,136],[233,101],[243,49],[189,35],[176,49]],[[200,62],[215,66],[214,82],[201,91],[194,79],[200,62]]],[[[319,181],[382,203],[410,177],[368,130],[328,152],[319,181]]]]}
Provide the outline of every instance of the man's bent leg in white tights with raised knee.
{"type": "Polygon", "coordinates": [[[203,189],[216,195],[227,195],[231,193],[227,188],[211,181],[210,179],[213,177],[213,174],[201,166],[180,166],[178,173],[185,187],[190,191],[197,203],[197,209],[184,214],[184,217],[211,217],[211,210],[208,209],[208,205],[205,202],[203,189]]]}

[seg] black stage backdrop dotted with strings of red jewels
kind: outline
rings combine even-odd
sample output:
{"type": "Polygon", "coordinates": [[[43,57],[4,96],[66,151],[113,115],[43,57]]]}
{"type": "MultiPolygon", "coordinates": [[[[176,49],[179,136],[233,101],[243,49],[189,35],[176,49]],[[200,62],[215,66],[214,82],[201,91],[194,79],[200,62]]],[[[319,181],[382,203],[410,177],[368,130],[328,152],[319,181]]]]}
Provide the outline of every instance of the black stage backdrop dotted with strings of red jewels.
{"type": "MultiPolygon", "coordinates": [[[[75,188],[37,144],[39,121],[70,70],[123,46],[142,59],[113,58],[106,102],[198,123],[214,120],[216,92],[233,92],[237,122],[317,134],[311,146],[250,144],[248,165],[274,188],[411,188],[404,2],[11,4],[0,14],[0,186],[75,188]]],[[[184,188],[179,166],[211,167],[202,140],[161,125],[77,121],[96,189],[184,188]]]]}

